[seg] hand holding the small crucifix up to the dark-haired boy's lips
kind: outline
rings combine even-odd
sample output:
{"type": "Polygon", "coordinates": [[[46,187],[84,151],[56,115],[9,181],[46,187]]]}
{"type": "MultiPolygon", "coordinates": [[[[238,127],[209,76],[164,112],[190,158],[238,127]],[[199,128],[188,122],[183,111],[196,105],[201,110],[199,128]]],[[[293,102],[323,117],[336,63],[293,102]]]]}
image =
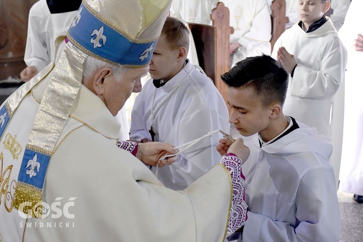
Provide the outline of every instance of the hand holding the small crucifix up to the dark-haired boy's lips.
{"type": "Polygon", "coordinates": [[[222,138],[219,140],[216,149],[221,156],[227,153],[234,153],[242,160],[242,164],[250,156],[250,149],[243,144],[242,138],[237,138],[233,143],[228,139],[222,138]]]}

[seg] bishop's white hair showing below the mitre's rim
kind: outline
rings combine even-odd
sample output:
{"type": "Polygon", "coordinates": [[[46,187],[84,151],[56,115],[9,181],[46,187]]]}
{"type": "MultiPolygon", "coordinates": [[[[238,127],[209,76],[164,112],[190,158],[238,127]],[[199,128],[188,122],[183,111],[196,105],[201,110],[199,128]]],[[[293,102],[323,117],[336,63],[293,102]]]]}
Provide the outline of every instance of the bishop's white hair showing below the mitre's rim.
{"type": "Polygon", "coordinates": [[[105,67],[112,69],[112,73],[115,75],[116,81],[121,81],[122,76],[126,71],[126,67],[113,65],[106,61],[101,61],[92,56],[88,56],[86,61],[83,63],[82,80],[92,78],[98,70],[105,67]]]}

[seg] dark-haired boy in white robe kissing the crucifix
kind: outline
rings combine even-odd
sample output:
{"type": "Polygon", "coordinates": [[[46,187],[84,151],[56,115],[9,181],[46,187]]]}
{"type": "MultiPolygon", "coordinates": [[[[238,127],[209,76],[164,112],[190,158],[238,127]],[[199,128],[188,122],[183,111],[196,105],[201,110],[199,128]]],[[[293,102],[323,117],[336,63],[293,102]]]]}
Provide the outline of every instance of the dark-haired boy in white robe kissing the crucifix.
{"type": "MultiPolygon", "coordinates": [[[[238,62],[222,79],[228,86],[229,122],[240,135],[252,136],[242,165],[248,220],[228,239],[338,241],[332,145],[314,128],[284,115],[287,72],[263,55],[238,62]]],[[[221,155],[230,144],[220,140],[221,155]]]]}

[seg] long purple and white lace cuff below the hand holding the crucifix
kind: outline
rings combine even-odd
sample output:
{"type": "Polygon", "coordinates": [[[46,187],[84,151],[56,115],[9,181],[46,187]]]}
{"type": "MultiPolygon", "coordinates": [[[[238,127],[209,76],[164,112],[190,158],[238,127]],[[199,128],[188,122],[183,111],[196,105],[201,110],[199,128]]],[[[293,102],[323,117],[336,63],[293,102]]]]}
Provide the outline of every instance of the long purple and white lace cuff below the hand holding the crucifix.
{"type": "Polygon", "coordinates": [[[226,166],[232,178],[233,195],[227,237],[242,227],[247,220],[247,204],[244,201],[244,176],[241,169],[242,160],[235,155],[223,156],[221,164],[226,166]]]}

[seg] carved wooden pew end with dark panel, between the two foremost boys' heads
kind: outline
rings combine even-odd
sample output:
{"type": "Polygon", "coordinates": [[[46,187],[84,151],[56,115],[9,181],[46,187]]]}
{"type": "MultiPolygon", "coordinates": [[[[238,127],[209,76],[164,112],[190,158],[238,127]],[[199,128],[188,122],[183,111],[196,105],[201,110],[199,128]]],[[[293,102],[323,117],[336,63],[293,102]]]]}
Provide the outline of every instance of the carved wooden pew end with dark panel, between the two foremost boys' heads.
{"type": "Polygon", "coordinates": [[[212,26],[188,23],[193,34],[200,67],[211,77],[214,85],[227,102],[227,86],[221,75],[230,69],[229,35],[233,28],[229,26],[229,10],[219,2],[212,10],[212,26]]]}

